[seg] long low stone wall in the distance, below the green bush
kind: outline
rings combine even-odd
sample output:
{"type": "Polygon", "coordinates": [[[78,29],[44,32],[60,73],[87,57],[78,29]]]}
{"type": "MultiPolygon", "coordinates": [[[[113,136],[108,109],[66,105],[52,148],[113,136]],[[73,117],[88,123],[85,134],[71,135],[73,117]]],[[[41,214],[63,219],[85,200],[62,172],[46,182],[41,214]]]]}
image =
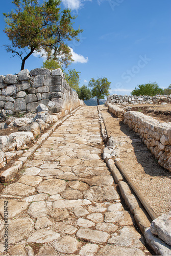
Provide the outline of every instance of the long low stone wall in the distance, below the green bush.
{"type": "Polygon", "coordinates": [[[128,96],[128,95],[117,95],[113,94],[107,97],[106,103],[117,104],[117,105],[128,105],[128,104],[154,104],[154,103],[166,103],[171,102],[170,95],[156,95],[156,96],[128,96]]]}

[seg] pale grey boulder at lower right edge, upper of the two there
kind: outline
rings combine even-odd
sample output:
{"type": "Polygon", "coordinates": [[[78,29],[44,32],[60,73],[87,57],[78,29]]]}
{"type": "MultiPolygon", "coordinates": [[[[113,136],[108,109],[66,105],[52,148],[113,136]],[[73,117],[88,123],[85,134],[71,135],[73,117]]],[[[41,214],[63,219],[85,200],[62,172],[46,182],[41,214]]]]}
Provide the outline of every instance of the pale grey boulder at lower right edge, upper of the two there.
{"type": "Polygon", "coordinates": [[[166,244],[171,245],[171,211],[153,220],[150,230],[153,234],[157,234],[166,244]]]}

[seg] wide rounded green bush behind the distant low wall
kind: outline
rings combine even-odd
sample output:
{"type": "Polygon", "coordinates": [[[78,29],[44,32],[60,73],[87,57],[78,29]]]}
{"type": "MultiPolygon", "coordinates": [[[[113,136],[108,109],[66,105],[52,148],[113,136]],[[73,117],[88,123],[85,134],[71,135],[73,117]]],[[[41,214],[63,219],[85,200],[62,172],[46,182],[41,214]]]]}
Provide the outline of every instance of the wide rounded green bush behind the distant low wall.
{"type": "Polygon", "coordinates": [[[155,96],[156,94],[163,94],[163,90],[159,88],[158,84],[156,82],[153,83],[145,83],[145,84],[139,84],[138,88],[135,87],[135,89],[131,92],[132,95],[148,95],[148,96],[155,96]]]}

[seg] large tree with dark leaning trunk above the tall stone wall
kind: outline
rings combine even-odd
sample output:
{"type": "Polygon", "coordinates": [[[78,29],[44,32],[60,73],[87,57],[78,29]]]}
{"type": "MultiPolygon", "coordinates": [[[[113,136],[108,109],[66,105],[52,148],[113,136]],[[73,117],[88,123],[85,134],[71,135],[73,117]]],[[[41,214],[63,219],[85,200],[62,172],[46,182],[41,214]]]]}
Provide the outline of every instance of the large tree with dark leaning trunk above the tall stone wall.
{"type": "Polygon", "coordinates": [[[69,9],[60,11],[61,0],[48,0],[39,4],[38,0],[13,0],[15,11],[3,13],[7,24],[4,32],[12,45],[6,45],[7,52],[13,57],[18,55],[22,60],[21,70],[25,61],[32,53],[44,53],[47,59],[54,58],[68,66],[72,60],[67,41],[76,39],[82,30],[75,30],[69,9]],[[23,49],[26,56],[23,57],[23,49]]]}

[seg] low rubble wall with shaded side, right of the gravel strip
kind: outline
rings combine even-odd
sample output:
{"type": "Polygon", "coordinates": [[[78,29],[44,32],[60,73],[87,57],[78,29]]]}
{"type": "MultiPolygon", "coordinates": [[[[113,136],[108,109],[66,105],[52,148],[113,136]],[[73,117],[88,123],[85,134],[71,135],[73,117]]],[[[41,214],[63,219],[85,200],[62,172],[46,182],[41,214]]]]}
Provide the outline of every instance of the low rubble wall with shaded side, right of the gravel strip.
{"type": "Polygon", "coordinates": [[[171,126],[150,116],[128,111],[123,121],[142,138],[158,163],[171,172],[171,126]]]}

